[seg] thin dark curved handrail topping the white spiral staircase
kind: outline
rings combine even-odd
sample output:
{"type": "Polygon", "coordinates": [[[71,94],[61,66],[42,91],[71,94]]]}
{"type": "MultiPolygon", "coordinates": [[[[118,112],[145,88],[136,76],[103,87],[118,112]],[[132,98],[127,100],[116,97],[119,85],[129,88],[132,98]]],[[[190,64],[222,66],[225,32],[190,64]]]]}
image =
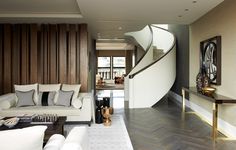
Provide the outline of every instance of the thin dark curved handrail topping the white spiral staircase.
{"type": "MultiPolygon", "coordinates": [[[[155,25],[148,25],[148,26],[150,27],[150,30],[151,30],[151,33],[152,33],[152,37],[153,37],[153,31],[152,31],[151,26],[153,26],[153,27],[155,27],[155,28],[159,28],[159,29],[165,30],[165,31],[169,32],[170,34],[172,34],[173,37],[174,37],[174,42],[172,43],[171,48],[170,48],[169,50],[167,50],[167,52],[166,52],[164,55],[162,55],[160,58],[158,58],[158,59],[155,60],[154,62],[150,63],[150,64],[147,65],[146,67],[144,67],[144,68],[142,68],[142,69],[136,71],[135,73],[132,73],[131,75],[129,75],[129,78],[130,78],[130,79],[134,78],[135,75],[137,75],[137,74],[139,74],[140,72],[146,70],[147,68],[149,68],[150,66],[152,66],[153,64],[155,64],[156,62],[158,62],[159,60],[161,60],[161,59],[162,59],[163,57],[165,57],[165,56],[174,48],[174,46],[175,46],[176,37],[174,36],[173,33],[171,33],[170,31],[168,31],[168,30],[166,30],[166,29],[164,29],[164,28],[161,28],[161,27],[158,27],[158,26],[155,26],[155,25]]],[[[152,42],[153,42],[153,38],[152,38],[152,42]]],[[[150,46],[148,47],[148,49],[146,50],[146,52],[145,52],[145,54],[142,56],[142,58],[147,54],[147,52],[148,52],[148,50],[150,50],[150,47],[151,47],[151,46],[152,46],[152,43],[150,43],[150,46]]],[[[140,61],[142,60],[142,58],[140,59],[140,61]]],[[[139,61],[139,62],[140,62],[140,61],[139,61]]],[[[138,62],[138,63],[139,63],[139,62],[138,62]]],[[[137,63],[135,66],[137,66],[138,63],[137,63]]],[[[135,66],[134,66],[134,67],[135,67],[135,66]]],[[[132,71],[132,70],[131,70],[131,71],[132,71]]],[[[131,72],[131,71],[130,71],[130,72],[131,72]]]]}

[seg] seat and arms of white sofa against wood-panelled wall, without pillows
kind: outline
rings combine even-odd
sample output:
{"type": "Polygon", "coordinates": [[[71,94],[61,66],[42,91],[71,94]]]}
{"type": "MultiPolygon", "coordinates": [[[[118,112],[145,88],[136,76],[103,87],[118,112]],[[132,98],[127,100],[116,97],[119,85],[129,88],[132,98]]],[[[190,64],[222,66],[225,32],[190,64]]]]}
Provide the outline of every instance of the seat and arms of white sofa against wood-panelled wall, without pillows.
{"type": "Polygon", "coordinates": [[[81,122],[90,125],[93,115],[93,95],[92,93],[79,93],[78,98],[81,101],[80,108],[73,106],[26,106],[16,107],[17,97],[15,93],[9,93],[0,96],[0,116],[20,116],[23,114],[57,114],[66,116],[66,122],[81,122]]]}

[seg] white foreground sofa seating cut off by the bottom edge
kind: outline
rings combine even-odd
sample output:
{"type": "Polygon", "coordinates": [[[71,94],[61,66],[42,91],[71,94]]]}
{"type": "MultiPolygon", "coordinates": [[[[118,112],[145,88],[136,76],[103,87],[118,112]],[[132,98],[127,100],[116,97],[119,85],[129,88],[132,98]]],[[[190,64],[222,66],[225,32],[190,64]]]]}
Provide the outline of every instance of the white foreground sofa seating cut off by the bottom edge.
{"type": "Polygon", "coordinates": [[[0,131],[1,150],[89,150],[87,127],[74,127],[68,136],[54,134],[43,147],[47,126],[0,131]],[[12,143],[12,144],[11,144],[12,143]]]}

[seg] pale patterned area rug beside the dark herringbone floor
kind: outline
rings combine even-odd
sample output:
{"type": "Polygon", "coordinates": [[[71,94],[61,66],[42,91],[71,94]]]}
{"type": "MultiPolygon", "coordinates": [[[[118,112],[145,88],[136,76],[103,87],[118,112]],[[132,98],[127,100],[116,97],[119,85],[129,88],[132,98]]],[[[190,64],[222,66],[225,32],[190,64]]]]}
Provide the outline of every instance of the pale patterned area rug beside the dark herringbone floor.
{"type": "MultiPolygon", "coordinates": [[[[65,131],[69,131],[78,125],[66,125],[65,131]]],[[[88,127],[90,150],[133,150],[129,134],[123,117],[112,116],[112,125],[92,124],[88,127]]]]}

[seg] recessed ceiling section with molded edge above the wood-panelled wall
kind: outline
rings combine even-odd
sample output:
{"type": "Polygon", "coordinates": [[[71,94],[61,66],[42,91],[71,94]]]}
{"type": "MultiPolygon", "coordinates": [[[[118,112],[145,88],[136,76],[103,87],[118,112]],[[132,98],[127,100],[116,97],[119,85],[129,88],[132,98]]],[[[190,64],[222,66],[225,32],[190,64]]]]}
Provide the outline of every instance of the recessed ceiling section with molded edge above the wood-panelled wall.
{"type": "Polygon", "coordinates": [[[82,18],[77,0],[0,1],[4,18],[82,18]]]}

